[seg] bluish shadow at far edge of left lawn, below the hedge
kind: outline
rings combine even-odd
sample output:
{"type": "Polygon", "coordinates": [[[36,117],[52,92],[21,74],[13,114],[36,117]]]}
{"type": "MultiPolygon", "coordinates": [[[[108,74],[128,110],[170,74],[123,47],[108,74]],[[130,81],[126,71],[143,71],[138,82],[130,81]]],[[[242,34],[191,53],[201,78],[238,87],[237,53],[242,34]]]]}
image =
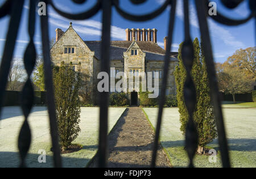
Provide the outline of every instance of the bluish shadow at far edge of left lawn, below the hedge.
{"type": "MultiPolygon", "coordinates": [[[[46,106],[34,106],[31,110],[31,113],[44,111],[44,110],[47,110],[46,106]]],[[[20,106],[6,106],[2,108],[0,121],[6,120],[11,117],[18,117],[18,116],[20,117],[23,116],[22,109],[20,106]]]]}

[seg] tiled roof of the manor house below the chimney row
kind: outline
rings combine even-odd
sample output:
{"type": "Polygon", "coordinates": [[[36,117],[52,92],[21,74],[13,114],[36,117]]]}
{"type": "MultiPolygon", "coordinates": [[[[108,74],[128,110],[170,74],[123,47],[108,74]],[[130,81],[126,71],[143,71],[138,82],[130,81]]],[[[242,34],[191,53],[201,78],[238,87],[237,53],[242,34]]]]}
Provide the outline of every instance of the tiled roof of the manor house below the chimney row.
{"type": "MultiPolygon", "coordinates": [[[[88,48],[94,51],[96,58],[100,59],[101,41],[84,41],[88,48]]],[[[123,52],[130,47],[133,41],[111,41],[110,60],[123,59],[123,52]]],[[[147,60],[164,60],[165,50],[152,41],[136,41],[139,48],[146,53],[147,60]]],[[[177,60],[176,52],[171,52],[171,60],[177,60]]]]}

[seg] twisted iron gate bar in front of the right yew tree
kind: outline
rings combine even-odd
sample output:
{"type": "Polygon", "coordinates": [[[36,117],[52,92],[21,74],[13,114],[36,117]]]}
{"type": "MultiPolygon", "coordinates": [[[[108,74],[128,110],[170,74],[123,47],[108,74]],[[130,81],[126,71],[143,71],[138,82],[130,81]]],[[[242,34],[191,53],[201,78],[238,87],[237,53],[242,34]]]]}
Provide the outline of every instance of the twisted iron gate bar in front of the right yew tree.
{"type": "Polygon", "coordinates": [[[190,35],[190,24],[189,24],[189,8],[188,0],[183,1],[184,6],[184,36],[185,40],[181,47],[181,56],[183,65],[187,72],[185,83],[184,83],[184,102],[188,110],[188,123],[185,129],[185,148],[189,157],[189,167],[193,167],[193,157],[196,154],[196,148],[198,144],[198,135],[195,122],[193,121],[193,113],[196,107],[196,88],[193,83],[191,70],[194,60],[194,48],[193,42],[190,35]]]}

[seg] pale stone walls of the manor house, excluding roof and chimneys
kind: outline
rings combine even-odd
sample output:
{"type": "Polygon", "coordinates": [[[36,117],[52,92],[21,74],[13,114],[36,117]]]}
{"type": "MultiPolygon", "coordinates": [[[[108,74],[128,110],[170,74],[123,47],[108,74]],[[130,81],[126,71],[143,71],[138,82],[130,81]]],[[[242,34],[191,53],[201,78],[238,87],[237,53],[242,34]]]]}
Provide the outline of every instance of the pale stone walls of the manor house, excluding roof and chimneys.
{"type": "MultiPolygon", "coordinates": [[[[97,75],[100,73],[100,59],[99,57],[96,57],[96,52],[90,49],[85,41],[80,38],[73,29],[72,24],[66,32],[57,37],[57,41],[51,49],[51,60],[57,66],[63,61],[65,64],[72,62],[74,66],[81,62],[81,72],[84,78],[82,89],[85,92],[91,92],[92,101],[97,103],[97,83],[99,81],[97,75]],[[67,50],[65,51],[65,48],[74,48],[75,50],[67,52],[67,50]]],[[[110,59],[110,67],[115,68],[115,73],[123,71],[126,74],[129,74],[131,70],[138,70],[139,73],[158,71],[160,77],[159,87],[161,87],[162,84],[163,65],[163,59],[146,59],[146,52],[141,50],[135,40],[132,41],[130,47],[123,52],[122,58],[118,57],[117,59],[110,59]],[[133,52],[131,52],[132,50],[133,52]],[[135,50],[137,50],[136,53],[135,50]]],[[[170,60],[167,95],[176,95],[174,80],[174,70],[176,65],[177,61],[170,60]]],[[[130,99],[130,92],[127,92],[127,96],[130,99]]]]}

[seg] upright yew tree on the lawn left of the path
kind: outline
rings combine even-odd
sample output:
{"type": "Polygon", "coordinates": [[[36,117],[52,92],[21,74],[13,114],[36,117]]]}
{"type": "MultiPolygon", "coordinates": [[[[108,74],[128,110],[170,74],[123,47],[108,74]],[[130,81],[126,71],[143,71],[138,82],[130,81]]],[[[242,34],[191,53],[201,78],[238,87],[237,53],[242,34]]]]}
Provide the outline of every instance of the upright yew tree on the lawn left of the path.
{"type": "Polygon", "coordinates": [[[54,74],[54,87],[60,145],[62,150],[67,150],[81,131],[79,127],[81,113],[80,70],[76,72],[73,70],[72,63],[64,65],[64,62],[61,62],[59,71],[54,74]]]}

